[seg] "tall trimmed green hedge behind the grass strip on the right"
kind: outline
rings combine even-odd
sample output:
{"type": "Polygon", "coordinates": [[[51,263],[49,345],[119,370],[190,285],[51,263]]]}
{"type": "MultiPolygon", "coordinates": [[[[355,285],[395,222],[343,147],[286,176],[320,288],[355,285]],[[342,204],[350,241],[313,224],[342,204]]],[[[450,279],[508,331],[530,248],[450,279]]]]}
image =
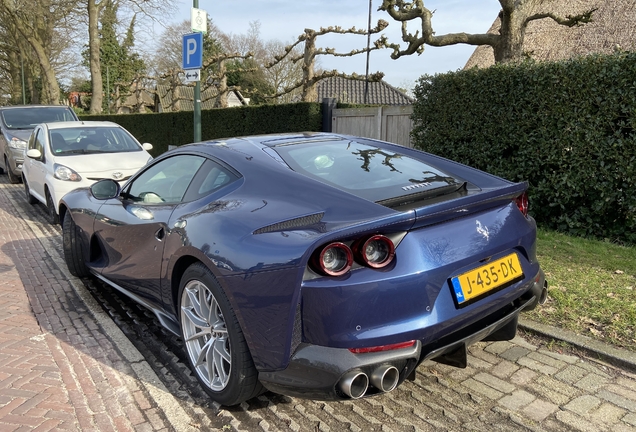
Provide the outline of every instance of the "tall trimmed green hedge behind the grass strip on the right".
{"type": "Polygon", "coordinates": [[[546,228],[636,243],[636,53],[423,76],[416,147],[530,183],[546,228]]]}

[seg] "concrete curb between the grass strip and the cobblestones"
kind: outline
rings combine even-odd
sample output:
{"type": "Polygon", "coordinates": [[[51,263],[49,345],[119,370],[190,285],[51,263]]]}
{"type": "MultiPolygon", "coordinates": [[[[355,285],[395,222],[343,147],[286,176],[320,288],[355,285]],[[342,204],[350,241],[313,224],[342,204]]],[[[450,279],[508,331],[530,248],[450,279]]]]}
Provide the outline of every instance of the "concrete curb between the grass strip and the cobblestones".
{"type": "Polygon", "coordinates": [[[524,317],[519,317],[519,328],[540,336],[561,340],[588,352],[600,360],[636,372],[636,353],[613,345],[576,334],[570,330],[541,324],[524,317]]]}

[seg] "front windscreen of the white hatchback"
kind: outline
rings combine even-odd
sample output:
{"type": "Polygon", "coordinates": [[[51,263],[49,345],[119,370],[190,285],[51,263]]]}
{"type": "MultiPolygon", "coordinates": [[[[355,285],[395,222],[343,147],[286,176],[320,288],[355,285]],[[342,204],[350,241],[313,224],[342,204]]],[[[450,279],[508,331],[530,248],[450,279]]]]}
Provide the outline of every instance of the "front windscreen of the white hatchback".
{"type": "Polygon", "coordinates": [[[56,156],[141,151],[139,143],[120,127],[76,127],[49,131],[56,156]]]}

